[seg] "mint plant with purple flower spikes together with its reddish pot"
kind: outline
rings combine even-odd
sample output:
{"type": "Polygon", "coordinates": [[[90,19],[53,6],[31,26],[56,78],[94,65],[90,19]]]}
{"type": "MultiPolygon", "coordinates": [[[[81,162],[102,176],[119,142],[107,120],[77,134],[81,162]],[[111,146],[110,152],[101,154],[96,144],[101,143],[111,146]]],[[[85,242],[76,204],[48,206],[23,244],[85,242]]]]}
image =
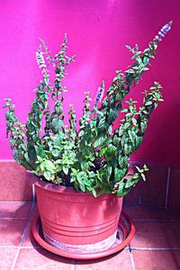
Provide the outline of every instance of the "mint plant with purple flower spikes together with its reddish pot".
{"type": "Polygon", "coordinates": [[[136,166],[137,171],[130,174],[129,158],[142,142],[151,112],[162,101],[161,85],[155,82],[144,92],[139,109],[132,99],[125,108],[122,102],[130,87],[138,84],[148,70],[150,58],[155,58],[158,42],[171,24],[167,23],[143,51],[139,51],[138,45],[126,46],[134,63],[124,73],[116,71],[106,94],[103,82],[94,102],[85,93],[78,125],[72,104],[69,124],[64,121],[67,89],[63,79],[67,66],[75,59],[67,56],[67,36],[54,57],[41,40],[36,58],[43,78],[25,125],[15,116],[11,99],[5,99],[6,131],[14,159],[37,176],[34,183],[42,229],[51,245],[85,250],[92,249],[95,243],[101,243],[103,248],[112,246],[121,214],[122,199],[118,198],[129,193],[141,178],[145,180],[148,167],[136,166]],[[52,85],[50,65],[55,69],[52,85]],[[123,118],[114,128],[113,122],[120,112],[123,118]]]}

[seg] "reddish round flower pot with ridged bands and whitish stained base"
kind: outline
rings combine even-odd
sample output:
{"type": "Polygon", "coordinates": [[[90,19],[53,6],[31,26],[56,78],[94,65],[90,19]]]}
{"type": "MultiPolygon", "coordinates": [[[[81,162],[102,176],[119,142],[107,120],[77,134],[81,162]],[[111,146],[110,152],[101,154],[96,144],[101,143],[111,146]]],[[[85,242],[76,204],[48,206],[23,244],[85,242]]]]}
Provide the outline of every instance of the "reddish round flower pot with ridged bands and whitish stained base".
{"type": "Polygon", "coordinates": [[[43,235],[64,249],[111,247],[116,238],[122,199],[116,194],[76,192],[71,187],[34,182],[43,235]]]}

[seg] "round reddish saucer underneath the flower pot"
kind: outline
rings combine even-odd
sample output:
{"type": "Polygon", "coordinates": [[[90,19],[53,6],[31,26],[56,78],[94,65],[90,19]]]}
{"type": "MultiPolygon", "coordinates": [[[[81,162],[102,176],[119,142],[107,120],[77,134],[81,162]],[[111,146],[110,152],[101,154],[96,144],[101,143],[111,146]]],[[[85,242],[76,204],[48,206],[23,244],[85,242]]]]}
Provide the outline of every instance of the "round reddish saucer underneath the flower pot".
{"type": "Polygon", "coordinates": [[[81,252],[79,250],[77,252],[72,252],[49,245],[49,243],[47,243],[43,238],[40,217],[33,221],[32,234],[41,247],[44,247],[54,254],[72,259],[87,260],[106,257],[121,251],[134,237],[135,227],[130,217],[124,212],[121,212],[121,217],[118,224],[118,232],[114,244],[112,247],[98,252],[81,252]]]}

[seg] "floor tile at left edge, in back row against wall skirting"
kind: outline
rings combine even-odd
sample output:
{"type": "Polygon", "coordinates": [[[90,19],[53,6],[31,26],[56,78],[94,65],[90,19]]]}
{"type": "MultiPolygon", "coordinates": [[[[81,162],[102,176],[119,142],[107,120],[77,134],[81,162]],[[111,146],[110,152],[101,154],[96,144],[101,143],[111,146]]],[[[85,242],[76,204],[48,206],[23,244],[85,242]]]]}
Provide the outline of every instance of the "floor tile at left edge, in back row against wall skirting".
{"type": "Polygon", "coordinates": [[[0,218],[28,218],[31,202],[0,202],[0,218]]]}

